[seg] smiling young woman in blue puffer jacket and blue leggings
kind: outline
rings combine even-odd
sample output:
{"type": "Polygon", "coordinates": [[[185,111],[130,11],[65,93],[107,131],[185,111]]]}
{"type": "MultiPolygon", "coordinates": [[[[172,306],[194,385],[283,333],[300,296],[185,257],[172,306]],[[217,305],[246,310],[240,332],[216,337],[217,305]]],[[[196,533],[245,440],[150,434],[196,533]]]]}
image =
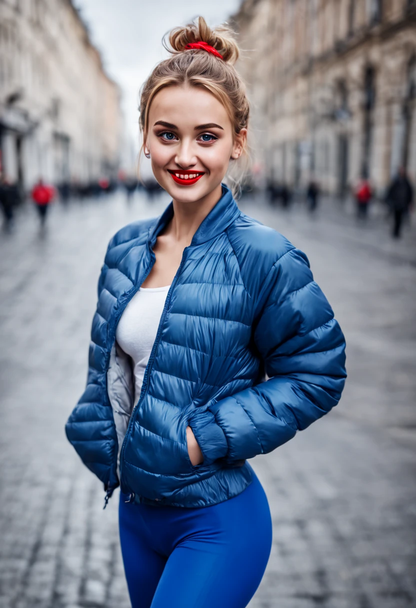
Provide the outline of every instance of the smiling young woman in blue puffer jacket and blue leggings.
{"type": "Polygon", "coordinates": [[[305,254],[223,184],[248,129],[235,41],[199,18],[170,45],[142,89],[140,126],[172,202],[109,243],[66,432],[106,501],[121,486],[134,608],[243,608],[272,542],[247,460],[337,404],[344,336],[305,254]]]}

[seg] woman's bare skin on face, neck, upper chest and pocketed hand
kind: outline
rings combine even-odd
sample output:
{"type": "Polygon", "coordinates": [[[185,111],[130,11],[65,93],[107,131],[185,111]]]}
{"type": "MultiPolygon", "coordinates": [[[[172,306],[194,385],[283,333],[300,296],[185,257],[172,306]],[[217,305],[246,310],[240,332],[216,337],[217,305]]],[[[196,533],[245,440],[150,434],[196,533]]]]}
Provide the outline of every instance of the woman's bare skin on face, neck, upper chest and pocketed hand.
{"type": "MultiPolygon", "coordinates": [[[[221,182],[231,159],[237,159],[244,147],[247,130],[234,133],[226,108],[206,89],[170,86],[162,89],[151,102],[145,151],[159,184],[172,196],[174,216],[158,236],[153,251],[156,261],[143,287],[170,285],[182,253],[189,246],[199,224],[220,200],[221,182]],[[163,121],[175,125],[155,125],[163,121]],[[214,123],[215,127],[195,130],[196,126],[214,123]],[[168,170],[203,172],[193,185],[179,185],[168,170]]],[[[186,429],[190,461],[203,462],[203,454],[191,427],[186,429]]]]}

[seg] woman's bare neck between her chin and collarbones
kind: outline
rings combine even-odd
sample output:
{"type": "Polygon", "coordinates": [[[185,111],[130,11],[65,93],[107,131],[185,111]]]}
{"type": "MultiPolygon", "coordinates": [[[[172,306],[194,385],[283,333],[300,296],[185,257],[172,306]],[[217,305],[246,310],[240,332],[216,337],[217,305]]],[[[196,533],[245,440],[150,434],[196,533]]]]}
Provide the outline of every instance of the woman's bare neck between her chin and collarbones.
{"type": "Polygon", "coordinates": [[[173,199],[173,218],[165,230],[165,235],[169,235],[178,243],[184,243],[185,247],[188,246],[199,224],[215,207],[222,195],[223,188],[218,184],[215,190],[198,201],[182,202],[173,199]]]}

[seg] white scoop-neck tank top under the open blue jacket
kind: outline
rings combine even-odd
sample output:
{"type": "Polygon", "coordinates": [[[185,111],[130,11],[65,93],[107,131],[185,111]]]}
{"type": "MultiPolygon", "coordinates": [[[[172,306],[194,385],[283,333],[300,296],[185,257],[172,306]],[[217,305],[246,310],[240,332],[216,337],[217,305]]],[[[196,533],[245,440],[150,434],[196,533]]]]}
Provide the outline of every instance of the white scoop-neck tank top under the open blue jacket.
{"type": "Polygon", "coordinates": [[[139,401],[151,349],[158,333],[165,305],[166,287],[140,287],[123,310],[116,330],[116,340],[133,359],[134,404],[139,401]]]}

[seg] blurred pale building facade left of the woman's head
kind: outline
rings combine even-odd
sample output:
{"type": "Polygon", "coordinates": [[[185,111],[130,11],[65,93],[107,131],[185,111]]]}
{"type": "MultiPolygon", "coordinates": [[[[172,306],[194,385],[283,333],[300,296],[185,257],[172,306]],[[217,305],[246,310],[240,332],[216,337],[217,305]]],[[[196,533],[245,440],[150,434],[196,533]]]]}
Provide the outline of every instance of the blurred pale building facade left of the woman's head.
{"type": "Polygon", "coordinates": [[[117,173],[120,91],[71,0],[0,0],[2,171],[85,184],[117,173]]]}

